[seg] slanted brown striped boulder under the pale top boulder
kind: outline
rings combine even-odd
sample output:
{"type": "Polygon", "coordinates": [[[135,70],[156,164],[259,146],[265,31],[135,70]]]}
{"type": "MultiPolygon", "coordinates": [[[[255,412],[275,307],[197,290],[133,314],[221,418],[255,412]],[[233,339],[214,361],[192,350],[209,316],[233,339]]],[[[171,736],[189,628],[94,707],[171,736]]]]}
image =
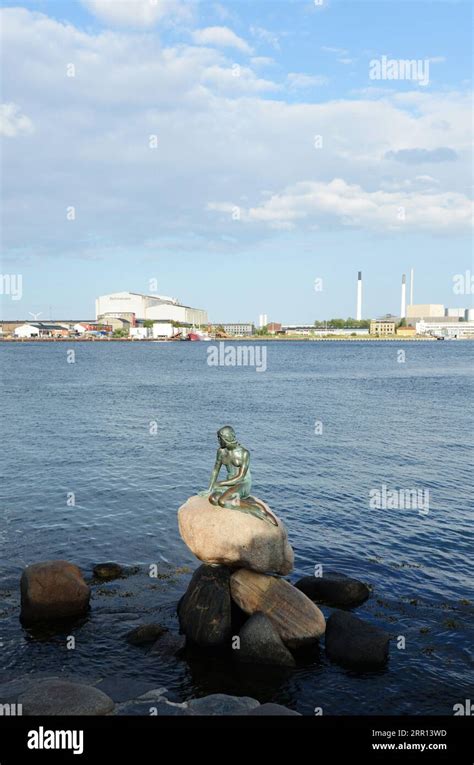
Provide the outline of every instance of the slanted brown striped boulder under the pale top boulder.
{"type": "Polygon", "coordinates": [[[230,589],[245,613],[262,611],[290,648],[309,646],[324,634],[326,623],[319,608],[284,579],[242,568],[232,574],[230,589]]]}

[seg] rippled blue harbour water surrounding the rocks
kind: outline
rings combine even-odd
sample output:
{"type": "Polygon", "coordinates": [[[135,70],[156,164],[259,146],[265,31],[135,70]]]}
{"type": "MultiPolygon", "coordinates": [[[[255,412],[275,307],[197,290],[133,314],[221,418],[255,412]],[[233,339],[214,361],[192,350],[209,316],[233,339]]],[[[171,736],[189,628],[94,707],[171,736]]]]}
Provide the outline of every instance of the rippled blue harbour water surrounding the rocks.
{"type": "Polygon", "coordinates": [[[473,698],[474,344],[268,343],[260,374],[208,366],[206,343],[73,347],[70,364],[63,343],[0,346],[2,677],[146,677],[177,700],[238,693],[305,714],[452,714],[473,698]],[[242,671],[125,643],[144,620],[175,627],[197,565],[176,511],[206,487],[227,422],[252,452],[255,494],[288,526],[291,579],[322,563],[372,586],[355,613],[393,636],[386,670],[348,672],[321,649],[289,672],[242,671]],[[429,513],[370,509],[382,485],[429,490],[429,513]],[[63,557],[87,576],[105,560],[138,567],[94,586],[74,651],[17,618],[24,566],[63,557]]]}

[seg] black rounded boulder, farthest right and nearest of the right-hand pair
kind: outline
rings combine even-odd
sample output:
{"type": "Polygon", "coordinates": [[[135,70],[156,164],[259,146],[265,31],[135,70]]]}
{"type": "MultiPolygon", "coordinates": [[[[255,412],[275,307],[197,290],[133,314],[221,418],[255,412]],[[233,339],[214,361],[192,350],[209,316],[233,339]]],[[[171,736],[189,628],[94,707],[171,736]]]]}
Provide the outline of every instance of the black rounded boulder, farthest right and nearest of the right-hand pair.
{"type": "Polygon", "coordinates": [[[326,629],[326,653],[345,667],[376,669],[388,660],[390,636],[347,611],[334,611],[326,629]]]}

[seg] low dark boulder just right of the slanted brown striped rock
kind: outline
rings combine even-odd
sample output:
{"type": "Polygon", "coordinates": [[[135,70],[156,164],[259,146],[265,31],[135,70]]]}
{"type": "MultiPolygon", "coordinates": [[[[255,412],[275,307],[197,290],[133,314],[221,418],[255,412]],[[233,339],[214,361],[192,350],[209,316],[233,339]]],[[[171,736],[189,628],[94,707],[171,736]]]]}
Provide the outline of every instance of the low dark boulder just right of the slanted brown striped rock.
{"type": "Polygon", "coordinates": [[[304,576],[295,587],[311,600],[336,608],[355,608],[370,595],[366,584],[336,571],[328,571],[324,576],[304,576]]]}

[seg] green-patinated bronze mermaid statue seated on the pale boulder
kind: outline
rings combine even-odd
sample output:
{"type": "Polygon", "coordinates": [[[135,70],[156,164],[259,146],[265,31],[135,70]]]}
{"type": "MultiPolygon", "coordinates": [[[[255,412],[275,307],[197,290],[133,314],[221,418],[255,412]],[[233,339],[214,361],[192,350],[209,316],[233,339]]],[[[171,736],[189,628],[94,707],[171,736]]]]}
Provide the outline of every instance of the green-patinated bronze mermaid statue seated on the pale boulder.
{"type": "Polygon", "coordinates": [[[239,444],[235,431],[230,425],[221,428],[217,432],[217,438],[219,449],[209,488],[207,491],[200,492],[200,495],[209,497],[209,502],[213,505],[228,510],[240,510],[278,526],[276,518],[258,499],[250,495],[252,488],[250,452],[239,444]],[[227,470],[227,478],[219,481],[219,473],[223,465],[227,470]]]}

